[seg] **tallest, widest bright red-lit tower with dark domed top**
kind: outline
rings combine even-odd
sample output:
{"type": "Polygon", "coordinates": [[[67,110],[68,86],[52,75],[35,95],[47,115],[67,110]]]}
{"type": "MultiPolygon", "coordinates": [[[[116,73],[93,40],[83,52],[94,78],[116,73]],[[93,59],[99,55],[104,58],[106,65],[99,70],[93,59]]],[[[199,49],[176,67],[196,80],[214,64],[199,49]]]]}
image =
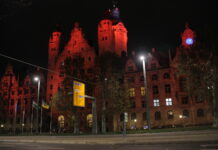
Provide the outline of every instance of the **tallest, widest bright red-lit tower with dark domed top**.
{"type": "Polygon", "coordinates": [[[127,41],[127,29],[120,21],[120,11],[114,4],[98,25],[99,54],[108,51],[121,56],[123,52],[127,53],[127,41]]]}

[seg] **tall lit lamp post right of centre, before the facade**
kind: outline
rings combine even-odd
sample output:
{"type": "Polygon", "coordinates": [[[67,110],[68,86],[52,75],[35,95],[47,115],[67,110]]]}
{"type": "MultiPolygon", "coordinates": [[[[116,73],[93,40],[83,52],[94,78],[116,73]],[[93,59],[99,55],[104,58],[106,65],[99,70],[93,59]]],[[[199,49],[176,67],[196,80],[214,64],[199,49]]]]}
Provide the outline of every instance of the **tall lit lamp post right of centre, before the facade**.
{"type": "Polygon", "coordinates": [[[147,87],[147,80],[146,80],[145,56],[141,56],[141,57],[140,57],[140,60],[142,61],[142,66],[143,66],[147,125],[148,125],[148,130],[151,130],[150,107],[149,107],[148,87],[147,87]]]}

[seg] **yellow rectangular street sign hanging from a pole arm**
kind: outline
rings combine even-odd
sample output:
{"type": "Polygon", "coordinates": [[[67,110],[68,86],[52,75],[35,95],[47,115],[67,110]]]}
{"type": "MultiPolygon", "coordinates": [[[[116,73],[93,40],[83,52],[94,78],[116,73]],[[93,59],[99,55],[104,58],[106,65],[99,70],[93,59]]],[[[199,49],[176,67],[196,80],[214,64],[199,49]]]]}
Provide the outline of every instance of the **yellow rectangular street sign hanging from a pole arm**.
{"type": "Polygon", "coordinates": [[[85,84],[73,81],[73,105],[85,107],[85,84]]]}

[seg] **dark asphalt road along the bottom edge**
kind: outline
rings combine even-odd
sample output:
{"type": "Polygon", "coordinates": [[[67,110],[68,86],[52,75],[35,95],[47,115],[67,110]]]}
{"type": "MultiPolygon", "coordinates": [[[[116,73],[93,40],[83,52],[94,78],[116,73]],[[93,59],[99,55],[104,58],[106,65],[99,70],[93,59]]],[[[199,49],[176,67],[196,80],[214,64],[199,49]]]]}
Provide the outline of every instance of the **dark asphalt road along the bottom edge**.
{"type": "Polygon", "coordinates": [[[172,144],[75,145],[0,142],[0,150],[218,150],[218,141],[172,144]]]}

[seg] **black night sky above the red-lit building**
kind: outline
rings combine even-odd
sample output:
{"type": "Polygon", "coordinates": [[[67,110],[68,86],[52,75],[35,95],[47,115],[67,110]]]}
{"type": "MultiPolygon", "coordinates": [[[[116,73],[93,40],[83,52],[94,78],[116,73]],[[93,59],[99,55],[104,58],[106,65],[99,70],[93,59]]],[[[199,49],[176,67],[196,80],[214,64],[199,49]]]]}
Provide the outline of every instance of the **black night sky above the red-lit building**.
{"type": "MultiPolygon", "coordinates": [[[[208,32],[217,38],[216,5],[201,1],[120,0],[121,19],[128,29],[128,50],[175,49],[186,22],[199,40],[208,32]]],[[[33,0],[28,7],[11,9],[13,15],[0,22],[0,52],[46,67],[48,39],[55,24],[62,26],[66,41],[76,21],[96,47],[97,24],[111,7],[112,0],[33,0]]],[[[0,58],[0,70],[6,62],[0,58]]]]}

